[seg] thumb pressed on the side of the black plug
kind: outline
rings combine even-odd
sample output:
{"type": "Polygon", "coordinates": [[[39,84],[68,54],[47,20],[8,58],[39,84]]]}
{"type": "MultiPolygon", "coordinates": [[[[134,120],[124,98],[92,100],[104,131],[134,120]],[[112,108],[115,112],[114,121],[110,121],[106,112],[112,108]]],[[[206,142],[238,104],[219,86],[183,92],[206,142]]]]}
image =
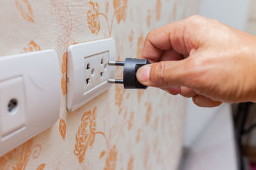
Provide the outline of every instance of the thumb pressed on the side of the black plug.
{"type": "Polygon", "coordinates": [[[188,59],[156,62],[140,67],[137,79],[152,87],[184,86],[189,76],[188,59]]]}

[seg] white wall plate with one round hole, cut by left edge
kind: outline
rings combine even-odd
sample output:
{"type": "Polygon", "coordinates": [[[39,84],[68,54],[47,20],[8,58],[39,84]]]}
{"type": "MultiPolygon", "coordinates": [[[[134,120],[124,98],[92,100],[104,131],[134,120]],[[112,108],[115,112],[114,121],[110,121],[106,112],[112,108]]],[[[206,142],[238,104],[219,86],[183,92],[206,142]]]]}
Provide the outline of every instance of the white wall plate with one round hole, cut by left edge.
{"type": "Polygon", "coordinates": [[[0,57],[0,73],[0,99],[5,103],[0,105],[1,156],[58,120],[61,78],[54,50],[0,57]],[[17,110],[6,115],[6,103],[12,98],[18,100],[17,110]]]}

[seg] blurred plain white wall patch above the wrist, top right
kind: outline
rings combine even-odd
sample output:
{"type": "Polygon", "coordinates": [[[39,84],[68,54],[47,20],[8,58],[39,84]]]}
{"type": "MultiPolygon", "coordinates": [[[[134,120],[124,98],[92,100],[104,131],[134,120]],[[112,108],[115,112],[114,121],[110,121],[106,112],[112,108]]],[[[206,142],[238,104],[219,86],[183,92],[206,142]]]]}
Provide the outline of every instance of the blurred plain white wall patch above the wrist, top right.
{"type": "Polygon", "coordinates": [[[200,15],[244,31],[250,0],[202,0],[200,15]]]}

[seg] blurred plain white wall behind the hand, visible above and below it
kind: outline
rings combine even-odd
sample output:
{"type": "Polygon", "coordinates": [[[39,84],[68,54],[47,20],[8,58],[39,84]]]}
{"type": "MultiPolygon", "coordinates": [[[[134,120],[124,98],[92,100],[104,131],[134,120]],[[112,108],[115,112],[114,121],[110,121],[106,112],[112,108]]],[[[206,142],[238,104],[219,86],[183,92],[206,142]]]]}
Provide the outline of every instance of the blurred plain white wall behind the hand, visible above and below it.
{"type": "MultiPolygon", "coordinates": [[[[250,0],[202,0],[199,14],[245,31],[249,4],[250,0]]],[[[253,27],[250,28],[253,31],[253,27]]],[[[217,110],[218,108],[199,108],[189,100],[184,136],[186,148],[193,146],[217,110]]]]}

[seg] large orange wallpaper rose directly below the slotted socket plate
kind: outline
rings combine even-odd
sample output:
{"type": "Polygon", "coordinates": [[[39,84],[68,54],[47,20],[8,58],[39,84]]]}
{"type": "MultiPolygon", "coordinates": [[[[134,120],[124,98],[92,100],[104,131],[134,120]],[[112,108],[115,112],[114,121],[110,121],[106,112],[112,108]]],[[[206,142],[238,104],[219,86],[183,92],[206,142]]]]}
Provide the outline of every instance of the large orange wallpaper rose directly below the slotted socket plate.
{"type": "Polygon", "coordinates": [[[76,145],[74,154],[78,157],[79,163],[84,161],[86,150],[93,145],[96,131],[96,107],[83,114],[81,125],[76,133],[76,145]]]}

